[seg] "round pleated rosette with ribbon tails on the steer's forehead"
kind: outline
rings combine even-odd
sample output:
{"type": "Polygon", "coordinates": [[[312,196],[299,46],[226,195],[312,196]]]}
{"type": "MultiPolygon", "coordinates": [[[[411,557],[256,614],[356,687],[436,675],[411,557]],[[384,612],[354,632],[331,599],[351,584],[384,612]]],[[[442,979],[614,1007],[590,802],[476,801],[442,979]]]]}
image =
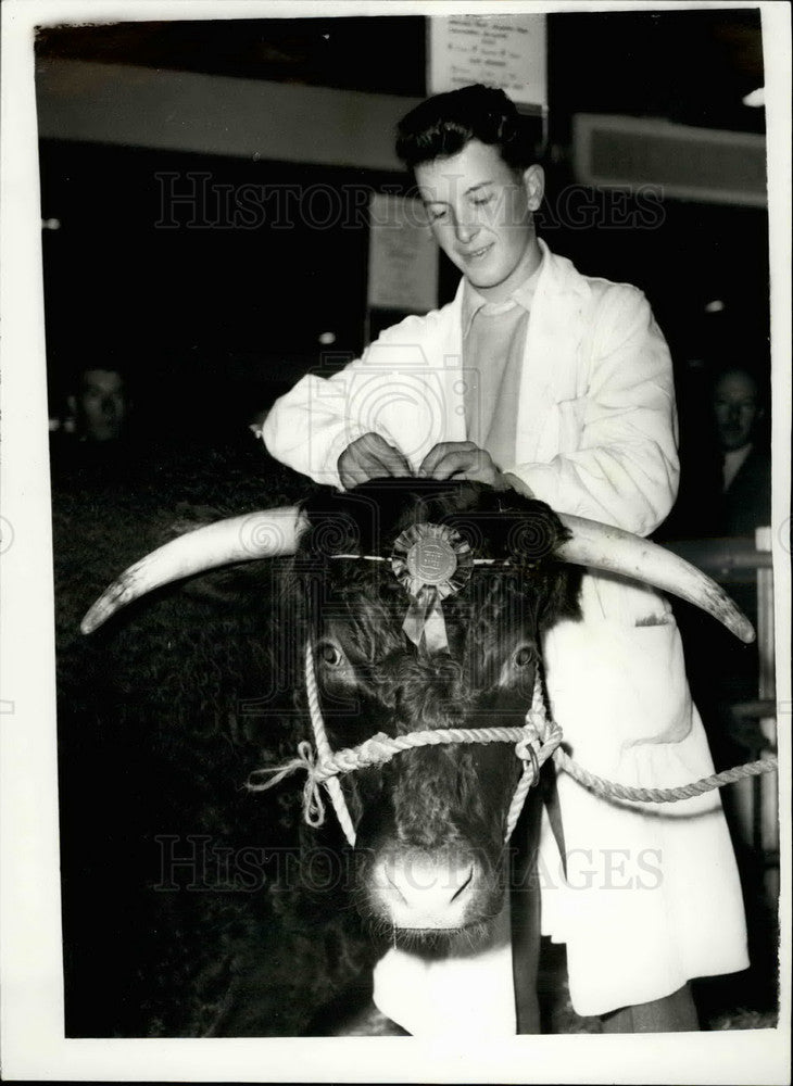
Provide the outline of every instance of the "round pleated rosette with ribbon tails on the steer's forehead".
{"type": "Polygon", "coordinates": [[[441,601],[460,592],[470,577],[474,557],[460,532],[443,525],[414,525],[399,536],[391,569],[411,597],[402,629],[427,651],[449,648],[441,601]]]}

